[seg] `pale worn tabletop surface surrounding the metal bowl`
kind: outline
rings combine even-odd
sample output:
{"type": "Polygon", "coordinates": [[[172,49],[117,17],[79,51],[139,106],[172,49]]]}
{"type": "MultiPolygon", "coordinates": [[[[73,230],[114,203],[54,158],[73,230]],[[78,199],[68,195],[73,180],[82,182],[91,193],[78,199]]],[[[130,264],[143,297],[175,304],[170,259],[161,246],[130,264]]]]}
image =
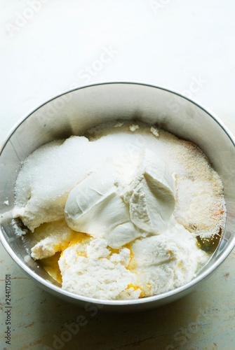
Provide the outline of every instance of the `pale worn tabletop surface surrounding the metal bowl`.
{"type": "MultiPolygon", "coordinates": [[[[58,92],[111,80],[184,92],[235,133],[234,11],[232,0],[1,0],[0,141],[58,92]]],[[[5,274],[13,297],[11,345],[0,310],[1,349],[235,348],[234,251],[194,293],[135,315],[62,302],[29,280],[2,246],[0,254],[3,307],[5,274]],[[67,333],[79,315],[83,325],[67,333]]]]}

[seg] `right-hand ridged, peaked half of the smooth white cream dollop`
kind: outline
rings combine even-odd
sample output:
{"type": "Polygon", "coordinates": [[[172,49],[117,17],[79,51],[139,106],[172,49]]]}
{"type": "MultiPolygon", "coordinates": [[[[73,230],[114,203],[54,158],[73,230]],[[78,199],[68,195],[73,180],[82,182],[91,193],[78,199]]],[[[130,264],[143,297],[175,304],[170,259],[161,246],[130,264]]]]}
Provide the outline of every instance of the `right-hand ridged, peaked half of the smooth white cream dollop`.
{"type": "Polygon", "coordinates": [[[166,163],[148,149],[140,156],[125,202],[128,198],[130,219],[137,228],[154,234],[166,229],[175,209],[175,183],[166,163]]]}

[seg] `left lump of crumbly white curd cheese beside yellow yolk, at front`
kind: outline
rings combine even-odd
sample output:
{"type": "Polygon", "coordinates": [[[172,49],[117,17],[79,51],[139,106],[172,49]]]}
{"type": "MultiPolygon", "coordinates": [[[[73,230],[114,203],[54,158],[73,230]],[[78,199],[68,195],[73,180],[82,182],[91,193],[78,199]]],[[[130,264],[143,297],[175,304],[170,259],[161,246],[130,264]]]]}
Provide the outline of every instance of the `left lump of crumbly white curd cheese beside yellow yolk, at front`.
{"type": "MultiPolygon", "coordinates": [[[[59,265],[66,290],[99,299],[116,299],[126,288],[128,293],[130,284],[136,283],[135,273],[127,269],[129,262],[128,248],[112,253],[106,239],[96,238],[90,244],[69,246],[59,265]]],[[[135,291],[133,297],[139,297],[140,291],[135,291]]]]}

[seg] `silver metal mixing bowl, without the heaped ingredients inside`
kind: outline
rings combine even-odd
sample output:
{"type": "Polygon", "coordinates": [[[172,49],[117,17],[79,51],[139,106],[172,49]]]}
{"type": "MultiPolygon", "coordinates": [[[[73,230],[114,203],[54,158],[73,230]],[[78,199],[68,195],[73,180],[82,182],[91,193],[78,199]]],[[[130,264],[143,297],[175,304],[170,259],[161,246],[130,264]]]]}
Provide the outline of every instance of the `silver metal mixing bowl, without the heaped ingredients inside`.
{"type": "Polygon", "coordinates": [[[105,304],[113,311],[150,309],[173,302],[193,290],[227,258],[235,245],[235,148],[229,130],[202,106],[176,92],[136,83],[105,83],[61,94],[29,113],[8,135],[0,156],[1,241],[8,253],[34,281],[67,301],[105,304]],[[193,141],[208,156],[224,183],[227,224],[222,241],[208,265],[195,279],[168,293],[140,300],[95,300],[62,290],[58,283],[29,258],[29,248],[16,237],[11,222],[14,185],[21,162],[36,148],[53,139],[82,134],[110,120],[141,120],[193,141]],[[9,205],[4,202],[8,200],[9,205]]]}

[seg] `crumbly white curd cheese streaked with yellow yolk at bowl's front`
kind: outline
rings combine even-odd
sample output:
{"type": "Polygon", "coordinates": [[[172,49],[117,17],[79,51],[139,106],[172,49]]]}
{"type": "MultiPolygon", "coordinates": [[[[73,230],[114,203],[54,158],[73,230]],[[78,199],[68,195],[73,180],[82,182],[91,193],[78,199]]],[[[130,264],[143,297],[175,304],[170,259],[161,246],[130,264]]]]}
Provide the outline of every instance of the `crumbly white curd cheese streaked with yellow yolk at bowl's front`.
{"type": "Polygon", "coordinates": [[[118,253],[104,238],[74,243],[59,260],[63,287],[98,299],[135,299],[182,286],[207,260],[185,231],[176,224],[173,232],[135,239],[118,253]]]}

